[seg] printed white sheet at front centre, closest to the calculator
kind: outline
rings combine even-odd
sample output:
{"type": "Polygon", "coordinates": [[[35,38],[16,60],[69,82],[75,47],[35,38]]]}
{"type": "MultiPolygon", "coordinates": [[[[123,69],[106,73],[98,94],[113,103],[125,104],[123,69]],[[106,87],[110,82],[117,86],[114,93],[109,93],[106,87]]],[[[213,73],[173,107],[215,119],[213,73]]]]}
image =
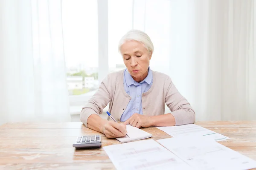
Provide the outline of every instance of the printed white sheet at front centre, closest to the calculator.
{"type": "Polygon", "coordinates": [[[191,170],[153,139],[103,147],[117,170],[191,170]]]}

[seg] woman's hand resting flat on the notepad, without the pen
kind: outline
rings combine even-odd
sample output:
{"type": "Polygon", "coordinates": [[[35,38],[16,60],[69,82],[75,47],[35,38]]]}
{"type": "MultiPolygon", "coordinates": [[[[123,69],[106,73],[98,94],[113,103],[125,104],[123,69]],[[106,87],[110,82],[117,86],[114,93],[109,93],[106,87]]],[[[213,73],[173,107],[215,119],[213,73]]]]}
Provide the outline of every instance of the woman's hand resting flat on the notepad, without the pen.
{"type": "Polygon", "coordinates": [[[133,127],[150,127],[152,125],[152,119],[150,116],[141,115],[134,113],[129,119],[127,119],[124,124],[132,125],[133,127]]]}

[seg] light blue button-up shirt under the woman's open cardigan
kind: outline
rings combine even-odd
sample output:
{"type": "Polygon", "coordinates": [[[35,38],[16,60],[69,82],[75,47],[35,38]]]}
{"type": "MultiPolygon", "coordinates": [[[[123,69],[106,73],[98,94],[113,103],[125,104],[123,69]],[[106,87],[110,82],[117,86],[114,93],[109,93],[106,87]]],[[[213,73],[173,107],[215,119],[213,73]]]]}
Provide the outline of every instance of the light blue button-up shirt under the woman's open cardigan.
{"type": "Polygon", "coordinates": [[[121,116],[120,121],[124,122],[129,119],[134,113],[143,114],[141,94],[145,93],[151,88],[153,82],[153,74],[148,67],[148,76],[141,82],[136,82],[131,74],[125,69],[124,71],[124,88],[126,93],[131,96],[131,100],[128,103],[124,113],[121,116]]]}

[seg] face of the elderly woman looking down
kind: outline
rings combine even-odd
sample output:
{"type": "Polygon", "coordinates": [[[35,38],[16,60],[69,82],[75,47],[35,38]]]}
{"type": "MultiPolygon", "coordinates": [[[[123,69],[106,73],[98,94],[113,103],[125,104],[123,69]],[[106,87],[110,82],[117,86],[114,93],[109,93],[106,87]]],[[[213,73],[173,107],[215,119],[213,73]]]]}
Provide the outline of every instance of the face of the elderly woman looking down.
{"type": "Polygon", "coordinates": [[[128,72],[136,82],[141,82],[148,75],[148,66],[152,54],[149,54],[144,44],[130,40],[126,41],[120,51],[128,72]]]}

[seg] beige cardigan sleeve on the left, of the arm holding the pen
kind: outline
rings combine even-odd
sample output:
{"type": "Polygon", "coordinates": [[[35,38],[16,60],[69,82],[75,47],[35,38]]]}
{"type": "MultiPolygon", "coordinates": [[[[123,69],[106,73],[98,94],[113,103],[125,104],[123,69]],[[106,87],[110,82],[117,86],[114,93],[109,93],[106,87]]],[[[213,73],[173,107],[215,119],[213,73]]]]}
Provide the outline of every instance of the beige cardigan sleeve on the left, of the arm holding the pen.
{"type": "Polygon", "coordinates": [[[110,102],[111,79],[109,75],[100,83],[96,93],[88,100],[87,104],[82,108],[80,119],[87,127],[87,119],[92,114],[102,114],[103,109],[110,102]]]}

